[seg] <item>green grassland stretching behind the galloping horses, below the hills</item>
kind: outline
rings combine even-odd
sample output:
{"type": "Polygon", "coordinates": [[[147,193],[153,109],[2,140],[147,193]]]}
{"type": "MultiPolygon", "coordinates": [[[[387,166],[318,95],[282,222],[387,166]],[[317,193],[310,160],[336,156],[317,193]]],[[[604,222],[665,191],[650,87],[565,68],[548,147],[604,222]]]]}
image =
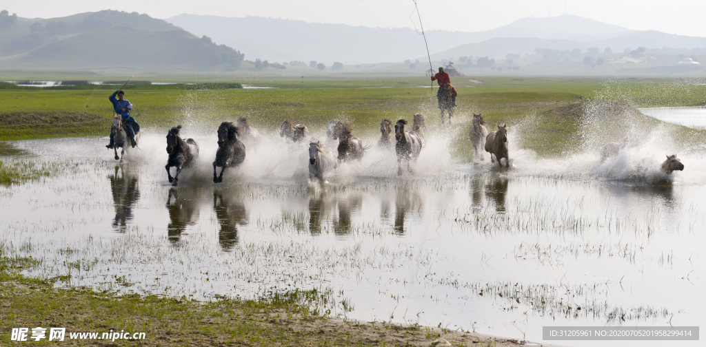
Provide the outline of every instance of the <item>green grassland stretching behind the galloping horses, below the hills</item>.
{"type": "MultiPolygon", "coordinates": [[[[186,90],[179,85],[126,86],[126,99],[143,131],[161,133],[181,123],[215,129],[221,121],[248,117],[260,129],[277,129],[289,118],[310,128],[323,128],[334,118],[354,123],[357,135],[374,136],[381,119],[426,114],[428,125],[439,126],[436,97],[428,78],[236,78],[201,81],[244,83],[275,89],[186,90]]],[[[679,79],[600,78],[453,78],[458,91],[453,128],[465,138],[472,114],[495,124],[517,123],[532,117],[534,130],[523,145],[541,155],[558,155],[577,135],[587,103],[622,102],[638,106],[692,106],[706,99],[706,86],[679,79]]],[[[185,85],[181,85],[185,86],[185,85]]],[[[0,140],[63,136],[105,136],[112,117],[107,96],[114,86],[16,88],[0,90],[0,140]]],[[[651,118],[644,120],[649,122],[651,118]]],[[[607,125],[610,127],[610,124],[607,125]]],[[[674,126],[677,127],[677,126],[674,126]]],[[[189,129],[185,129],[185,133],[189,129]]],[[[698,130],[683,131],[692,135],[698,130]]],[[[313,135],[321,135],[316,132],[313,135]]],[[[455,152],[469,159],[467,143],[455,152]]]]}

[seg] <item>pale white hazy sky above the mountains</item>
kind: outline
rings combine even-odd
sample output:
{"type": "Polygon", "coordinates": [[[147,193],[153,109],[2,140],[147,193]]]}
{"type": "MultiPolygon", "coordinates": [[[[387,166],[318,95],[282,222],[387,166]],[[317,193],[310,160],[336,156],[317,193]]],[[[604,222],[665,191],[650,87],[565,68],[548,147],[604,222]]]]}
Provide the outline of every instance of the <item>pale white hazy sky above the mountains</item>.
{"type": "MultiPolygon", "coordinates": [[[[497,28],[524,17],[564,13],[620,25],[633,30],[706,37],[704,0],[417,0],[424,30],[476,32],[497,28]]],[[[52,18],[113,9],[148,13],[166,19],[180,13],[225,17],[262,16],[313,23],[342,23],[369,27],[413,28],[412,0],[8,0],[1,8],[25,18],[52,18]]],[[[0,9],[1,9],[0,8],[0,9]]],[[[416,14],[414,16],[416,20],[416,14]]]]}

